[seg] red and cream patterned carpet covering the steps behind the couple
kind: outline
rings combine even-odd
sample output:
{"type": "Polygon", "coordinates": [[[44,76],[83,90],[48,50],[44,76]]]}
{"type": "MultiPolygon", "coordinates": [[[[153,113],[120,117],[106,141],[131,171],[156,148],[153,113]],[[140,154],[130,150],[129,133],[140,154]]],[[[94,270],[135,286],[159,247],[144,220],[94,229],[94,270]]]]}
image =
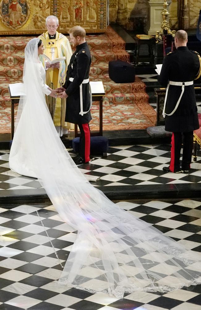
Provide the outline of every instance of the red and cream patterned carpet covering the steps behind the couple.
{"type": "MultiPolygon", "coordinates": [[[[11,132],[11,103],[7,86],[22,82],[24,47],[32,37],[2,37],[0,39],[0,133],[11,132]]],[[[91,81],[102,81],[105,87],[103,102],[103,130],[144,129],[154,126],[156,112],[148,104],[145,84],[136,77],[134,83],[117,84],[110,80],[110,60],[129,61],[125,42],[108,27],[105,34],[87,36],[91,49],[91,81]]],[[[15,107],[17,110],[17,105],[15,107]]],[[[92,106],[91,130],[98,129],[97,103],[92,106]]]]}

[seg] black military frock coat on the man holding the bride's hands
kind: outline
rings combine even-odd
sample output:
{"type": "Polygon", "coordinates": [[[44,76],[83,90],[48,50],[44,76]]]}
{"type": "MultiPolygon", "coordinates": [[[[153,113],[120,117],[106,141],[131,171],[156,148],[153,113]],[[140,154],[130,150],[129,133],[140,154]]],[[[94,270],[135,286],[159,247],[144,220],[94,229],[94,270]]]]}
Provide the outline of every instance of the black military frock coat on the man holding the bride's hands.
{"type": "MultiPolygon", "coordinates": [[[[75,53],[71,56],[68,65],[66,82],[63,87],[66,88],[66,117],[65,121],[73,124],[86,124],[91,121],[90,111],[83,116],[80,112],[80,90],[82,81],[89,78],[91,65],[91,53],[87,43],[82,43],[76,47],[75,53]],[[69,78],[74,78],[73,82],[69,78]]],[[[89,83],[82,84],[83,111],[88,111],[90,107],[89,83]]]]}

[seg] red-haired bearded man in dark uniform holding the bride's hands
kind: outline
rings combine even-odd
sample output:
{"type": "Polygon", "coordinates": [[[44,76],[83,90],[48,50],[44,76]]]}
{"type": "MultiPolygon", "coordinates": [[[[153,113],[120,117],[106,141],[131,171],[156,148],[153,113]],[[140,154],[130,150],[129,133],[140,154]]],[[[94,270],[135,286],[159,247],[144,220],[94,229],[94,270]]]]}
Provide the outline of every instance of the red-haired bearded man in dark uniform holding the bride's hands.
{"type": "Polygon", "coordinates": [[[66,122],[78,124],[80,130],[79,155],[74,158],[75,163],[82,164],[90,161],[90,129],[89,122],[91,94],[89,92],[89,70],[91,53],[85,41],[85,30],[75,26],[69,30],[73,47],[76,47],[68,65],[66,82],[58,91],[59,97],[66,98],[66,122]]]}

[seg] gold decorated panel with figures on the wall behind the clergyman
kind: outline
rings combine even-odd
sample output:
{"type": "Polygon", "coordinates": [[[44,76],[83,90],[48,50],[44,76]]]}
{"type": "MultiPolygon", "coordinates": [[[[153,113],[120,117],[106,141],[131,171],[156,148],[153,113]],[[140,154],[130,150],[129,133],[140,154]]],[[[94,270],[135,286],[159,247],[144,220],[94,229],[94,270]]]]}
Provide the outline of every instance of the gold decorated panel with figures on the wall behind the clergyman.
{"type": "Polygon", "coordinates": [[[41,34],[48,15],[58,17],[64,34],[75,25],[87,33],[105,32],[107,0],[0,0],[0,35],[41,34]]]}

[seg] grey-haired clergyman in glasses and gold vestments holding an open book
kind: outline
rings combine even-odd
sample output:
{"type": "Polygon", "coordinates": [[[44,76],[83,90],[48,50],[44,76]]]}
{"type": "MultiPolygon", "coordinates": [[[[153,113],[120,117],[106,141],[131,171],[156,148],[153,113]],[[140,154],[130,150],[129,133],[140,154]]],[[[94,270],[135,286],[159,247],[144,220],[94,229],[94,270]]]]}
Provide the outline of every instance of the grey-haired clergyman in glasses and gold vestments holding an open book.
{"type": "MultiPolygon", "coordinates": [[[[53,65],[49,64],[44,57],[40,57],[46,70],[46,84],[53,89],[62,86],[66,80],[66,70],[71,59],[72,50],[69,40],[62,33],[57,32],[58,18],[50,15],[46,18],[47,32],[42,33],[38,38],[42,40],[44,44],[44,54],[49,57],[50,60],[66,57],[66,60],[62,60],[53,65]]],[[[48,106],[51,107],[51,98],[47,102],[48,106]]],[[[65,122],[65,111],[66,111],[66,100],[57,98],[55,104],[55,110],[53,113],[54,125],[59,134],[65,134],[68,130],[74,129],[74,125],[65,122]],[[60,126],[61,131],[60,131],[60,126]]]]}

